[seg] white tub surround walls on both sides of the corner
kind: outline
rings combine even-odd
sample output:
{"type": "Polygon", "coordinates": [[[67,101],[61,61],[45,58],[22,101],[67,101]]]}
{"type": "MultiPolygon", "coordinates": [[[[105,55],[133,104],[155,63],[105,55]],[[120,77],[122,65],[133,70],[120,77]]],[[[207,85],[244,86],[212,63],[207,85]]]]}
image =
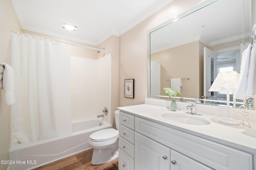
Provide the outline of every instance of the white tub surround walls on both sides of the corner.
{"type": "Polygon", "coordinates": [[[103,114],[105,106],[110,108],[111,56],[98,60],[71,56],[70,62],[72,120],[103,114]]]}

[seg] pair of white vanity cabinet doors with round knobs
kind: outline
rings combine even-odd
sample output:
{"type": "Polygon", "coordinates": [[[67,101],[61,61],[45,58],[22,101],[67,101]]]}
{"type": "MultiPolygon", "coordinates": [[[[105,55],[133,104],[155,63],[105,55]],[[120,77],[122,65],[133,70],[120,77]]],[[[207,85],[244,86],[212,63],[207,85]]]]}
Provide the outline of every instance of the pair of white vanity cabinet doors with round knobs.
{"type": "Polygon", "coordinates": [[[208,166],[135,132],[135,170],[212,170],[208,166]]]}

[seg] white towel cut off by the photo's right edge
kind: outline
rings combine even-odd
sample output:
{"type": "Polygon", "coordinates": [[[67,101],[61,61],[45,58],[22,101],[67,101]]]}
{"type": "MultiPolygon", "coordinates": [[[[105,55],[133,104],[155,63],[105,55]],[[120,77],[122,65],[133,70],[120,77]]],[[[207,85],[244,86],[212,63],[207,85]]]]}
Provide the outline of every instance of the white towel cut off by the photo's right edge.
{"type": "Polygon", "coordinates": [[[245,95],[248,97],[256,96],[256,49],[255,45],[252,46],[250,53],[250,63],[248,69],[247,89],[245,95]]]}

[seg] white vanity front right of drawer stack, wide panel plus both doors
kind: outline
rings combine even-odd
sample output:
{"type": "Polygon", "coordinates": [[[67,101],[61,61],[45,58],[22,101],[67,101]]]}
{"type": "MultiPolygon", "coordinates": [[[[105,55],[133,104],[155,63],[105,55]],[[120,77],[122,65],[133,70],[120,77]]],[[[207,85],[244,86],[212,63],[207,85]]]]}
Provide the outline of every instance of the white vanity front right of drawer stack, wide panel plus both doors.
{"type": "Polygon", "coordinates": [[[252,154],[135,117],[134,170],[252,170],[252,154]]]}

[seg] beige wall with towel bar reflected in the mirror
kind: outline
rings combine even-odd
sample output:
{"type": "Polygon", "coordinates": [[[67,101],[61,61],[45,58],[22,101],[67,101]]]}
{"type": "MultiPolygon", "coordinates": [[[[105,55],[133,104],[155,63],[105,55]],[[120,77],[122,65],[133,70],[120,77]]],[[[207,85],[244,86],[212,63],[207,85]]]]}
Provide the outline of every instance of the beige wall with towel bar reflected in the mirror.
{"type": "Polygon", "coordinates": [[[181,93],[186,98],[201,98],[203,92],[204,65],[202,43],[180,45],[151,55],[153,61],[161,63],[161,95],[166,96],[164,87],[171,87],[166,78],[190,78],[182,80],[181,93]],[[184,50],[185,49],[185,50],[184,50]]]}

